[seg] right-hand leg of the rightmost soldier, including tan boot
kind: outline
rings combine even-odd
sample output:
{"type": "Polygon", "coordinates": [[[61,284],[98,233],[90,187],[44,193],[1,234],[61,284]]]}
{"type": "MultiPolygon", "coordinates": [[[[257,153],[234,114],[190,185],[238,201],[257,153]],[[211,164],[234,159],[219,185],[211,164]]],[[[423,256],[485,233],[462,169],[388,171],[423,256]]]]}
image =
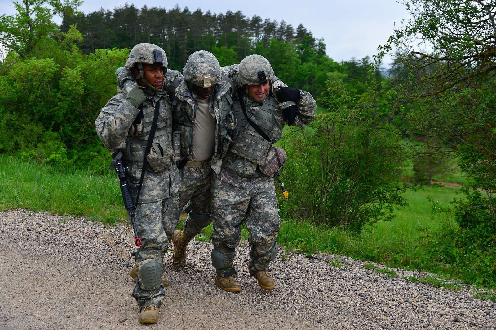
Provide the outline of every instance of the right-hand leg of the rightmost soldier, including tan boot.
{"type": "Polygon", "coordinates": [[[269,263],[274,260],[278,246],[276,236],[281,219],[277,213],[277,199],[273,178],[260,178],[255,182],[256,193],[251,198],[245,224],[250,237],[249,274],[256,277],[264,289],[274,288],[268,274],[269,263]]]}

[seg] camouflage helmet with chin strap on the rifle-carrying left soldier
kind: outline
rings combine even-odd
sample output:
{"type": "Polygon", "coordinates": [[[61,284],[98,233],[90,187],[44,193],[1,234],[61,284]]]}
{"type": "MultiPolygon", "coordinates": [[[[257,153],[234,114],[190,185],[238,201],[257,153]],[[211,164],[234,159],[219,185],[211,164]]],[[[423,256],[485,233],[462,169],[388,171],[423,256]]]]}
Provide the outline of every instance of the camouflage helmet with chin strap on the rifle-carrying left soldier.
{"type": "Polygon", "coordinates": [[[155,87],[151,86],[145,79],[143,79],[143,75],[145,74],[143,71],[143,64],[162,66],[164,68],[165,75],[165,72],[167,71],[167,55],[165,54],[164,49],[153,44],[137,44],[132,47],[129,52],[129,56],[125,62],[125,67],[127,69],[132,69],[135,64],[138,65],[139,69],[139,75],[136,79],[141,79],[149,88],[158,91],[155,87]]]}

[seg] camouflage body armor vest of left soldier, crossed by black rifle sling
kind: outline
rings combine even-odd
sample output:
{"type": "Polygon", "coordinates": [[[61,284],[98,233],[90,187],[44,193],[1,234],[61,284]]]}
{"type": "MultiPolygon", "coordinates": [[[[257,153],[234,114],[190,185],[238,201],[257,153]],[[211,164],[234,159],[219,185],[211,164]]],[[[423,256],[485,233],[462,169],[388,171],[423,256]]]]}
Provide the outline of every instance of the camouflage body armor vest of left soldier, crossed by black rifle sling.
{"type": "MultiPolygon", "coordinates": [[[[155,108],[150,105],[153,99],[148,99],[143,103],[143,129],[136,137],[130,137],[126,141],[125,158],[133,162],[143,163],[145,156],[146,143],[148,141],[150,130],[153,122],[155,108]]],[[[174,161],[174,148],[172,138],[172,106],[169,103],[168,96],[160,98],[160,111],[157,119],[157,127],[150,149],[150,154],[155,154],[160,158],[164,158],[170,163],[174,161]]],[[[164,168],[166,170],[168,168],[164,168]]]]}

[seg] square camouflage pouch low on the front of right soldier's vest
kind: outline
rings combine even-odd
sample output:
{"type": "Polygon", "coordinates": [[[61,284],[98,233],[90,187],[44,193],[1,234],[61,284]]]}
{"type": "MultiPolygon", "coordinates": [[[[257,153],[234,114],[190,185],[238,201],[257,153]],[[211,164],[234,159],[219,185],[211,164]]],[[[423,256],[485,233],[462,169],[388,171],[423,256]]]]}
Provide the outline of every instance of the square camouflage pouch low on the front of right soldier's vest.
{"type": "Polygon", "coordinates": [[[231,151],[253,163],[262,165],[269,151],[270,144],[270,141],[266,141],[256,132],[242,129],[236,137],[231,151]]]}

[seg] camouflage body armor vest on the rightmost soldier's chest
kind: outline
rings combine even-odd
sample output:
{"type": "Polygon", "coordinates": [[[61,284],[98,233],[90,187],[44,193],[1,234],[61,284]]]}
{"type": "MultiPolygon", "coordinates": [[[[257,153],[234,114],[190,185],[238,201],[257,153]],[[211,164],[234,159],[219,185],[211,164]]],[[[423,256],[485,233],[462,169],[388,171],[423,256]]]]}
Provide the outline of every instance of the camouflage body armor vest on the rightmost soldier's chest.
{"type": "MultiPolygon", "coordinates": [[[[271,137],[274,125],[274,111],[277,101],[272,95],[267,96],[262,106],[254,114],[247,109],[248,117],[268,136],[271,137]]],[[[236,131],[238,135],[231,147],[231,152],[253,163],[262,164],[272,141],[260,136],[245,117],[239,101],[234,103],[233,113],[237,119],[236,131]]]]}

